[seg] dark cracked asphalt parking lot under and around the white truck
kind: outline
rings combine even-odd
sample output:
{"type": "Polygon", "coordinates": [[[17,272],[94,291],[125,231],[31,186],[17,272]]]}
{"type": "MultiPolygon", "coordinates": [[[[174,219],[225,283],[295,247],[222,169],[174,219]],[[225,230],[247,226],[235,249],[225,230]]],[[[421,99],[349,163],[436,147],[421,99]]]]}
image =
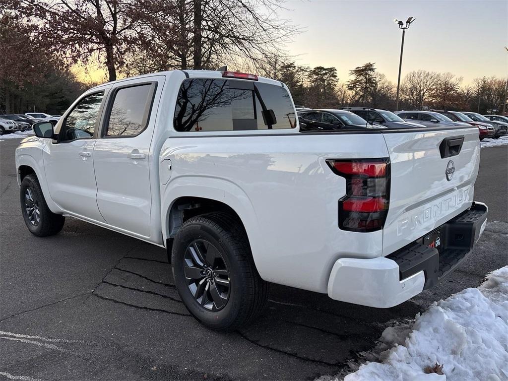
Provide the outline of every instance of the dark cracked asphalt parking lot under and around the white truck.
{"type": "Polygon", "coordinates": [[[19,211],[17,139],[0,142],[0,379],[313,379],[336,374],[384,327],[506,265],[508,149],[482,149],[478,201],[487,230],[432,290],[391,309],[336,302],[272,284],[252,326],[219,334],[189,316],[164,249],[73,218],[37,238],[19,211]],[[24,378],[16,378],[24,377],[24,378]]]}

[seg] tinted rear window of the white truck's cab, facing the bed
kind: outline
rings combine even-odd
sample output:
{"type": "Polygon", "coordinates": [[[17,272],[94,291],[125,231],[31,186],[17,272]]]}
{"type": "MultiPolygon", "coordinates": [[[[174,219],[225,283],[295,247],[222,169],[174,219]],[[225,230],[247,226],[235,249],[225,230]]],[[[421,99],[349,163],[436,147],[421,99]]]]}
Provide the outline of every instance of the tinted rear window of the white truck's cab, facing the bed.
{"type": "Polygon", "coordinates": [[[296,115],[288,91],[279,85],[196,78],[180,86],[174,126],[179,132],[291,129],[296,115]],[[265,120],[270,110],[274,123],[265,120]]]}

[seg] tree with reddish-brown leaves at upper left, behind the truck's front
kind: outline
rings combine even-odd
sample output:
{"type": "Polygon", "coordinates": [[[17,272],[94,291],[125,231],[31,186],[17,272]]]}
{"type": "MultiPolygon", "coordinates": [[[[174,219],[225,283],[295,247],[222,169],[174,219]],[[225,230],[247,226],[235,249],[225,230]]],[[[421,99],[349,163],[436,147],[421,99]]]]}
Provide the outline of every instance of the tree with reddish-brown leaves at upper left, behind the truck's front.
{"type": "Polygon", "coordinates": [[[7,0],[40,25],[46,53],[72,63],[98,56],[109,80],[124,64],[126,46],[134,39],[133,3],[119,0],[7,0]]]}

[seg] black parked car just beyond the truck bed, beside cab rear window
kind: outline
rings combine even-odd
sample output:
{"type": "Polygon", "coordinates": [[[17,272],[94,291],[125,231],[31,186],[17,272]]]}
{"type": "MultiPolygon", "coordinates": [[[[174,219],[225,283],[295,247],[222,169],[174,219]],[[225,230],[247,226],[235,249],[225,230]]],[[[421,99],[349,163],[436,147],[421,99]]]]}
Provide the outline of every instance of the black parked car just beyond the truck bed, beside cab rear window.
{"type": "Polygon", "coordinates": [[[333,131],[359,128],[378,128],[358,115],[344,110],[322,109],[298,111],[300,131],[333,131]]]}

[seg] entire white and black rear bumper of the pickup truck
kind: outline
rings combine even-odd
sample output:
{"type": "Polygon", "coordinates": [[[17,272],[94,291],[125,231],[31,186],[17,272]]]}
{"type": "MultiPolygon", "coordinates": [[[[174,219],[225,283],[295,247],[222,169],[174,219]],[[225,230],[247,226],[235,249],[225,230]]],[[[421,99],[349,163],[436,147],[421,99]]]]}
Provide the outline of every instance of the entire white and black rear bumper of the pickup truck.
{"type": "Polygon", "coordinates": [[[441,253],[413,242],[386,257],[342,258],[328,281],[328,296],[370,307],[396,306],[431,288],[451,273],[472,251],[487,224],[487,206],[473,203],[469,210],[440,227],[441,253]]]}

